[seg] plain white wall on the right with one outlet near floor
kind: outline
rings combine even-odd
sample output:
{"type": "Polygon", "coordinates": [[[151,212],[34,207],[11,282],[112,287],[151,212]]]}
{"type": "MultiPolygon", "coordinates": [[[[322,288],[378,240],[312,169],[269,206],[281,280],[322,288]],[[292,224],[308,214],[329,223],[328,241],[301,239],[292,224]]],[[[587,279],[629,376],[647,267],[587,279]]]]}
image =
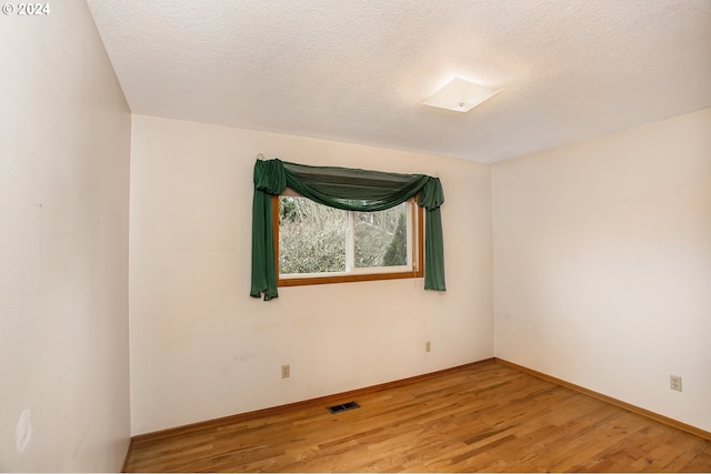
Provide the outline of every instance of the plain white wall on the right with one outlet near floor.
{"type": "Polygon", "coordinates": [[[711,109],[495,164],[493,216],[497,356],[711,431],[711,109]]]}

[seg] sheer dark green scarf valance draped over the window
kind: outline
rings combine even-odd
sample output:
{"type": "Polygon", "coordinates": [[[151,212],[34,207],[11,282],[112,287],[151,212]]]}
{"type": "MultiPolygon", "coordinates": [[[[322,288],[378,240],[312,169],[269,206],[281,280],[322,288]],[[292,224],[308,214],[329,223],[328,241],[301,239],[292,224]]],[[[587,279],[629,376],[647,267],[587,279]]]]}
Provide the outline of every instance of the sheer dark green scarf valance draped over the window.
{"type": "Polygon", "coordinates": [[[347,211],[382,211],[418,194],[424,208],[424,289],[444,291],[444,250],[438,178],[338,167],[309,167],[273,160],[254,164],[252,203],[252,288],[250,295],[277,297],[271,195],[291,188],[319,204],[347,211]]]}

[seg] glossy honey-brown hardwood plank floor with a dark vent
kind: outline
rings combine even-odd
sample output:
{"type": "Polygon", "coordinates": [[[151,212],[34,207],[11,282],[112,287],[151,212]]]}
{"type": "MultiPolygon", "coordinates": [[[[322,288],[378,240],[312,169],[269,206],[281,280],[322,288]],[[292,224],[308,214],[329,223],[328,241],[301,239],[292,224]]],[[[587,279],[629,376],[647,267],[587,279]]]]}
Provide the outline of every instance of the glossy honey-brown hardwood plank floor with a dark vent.
{"type": "Polygon", "coordinates": [[[711,441],[495,362],[182,434],[128,472],[711,472],[711,441]]]}

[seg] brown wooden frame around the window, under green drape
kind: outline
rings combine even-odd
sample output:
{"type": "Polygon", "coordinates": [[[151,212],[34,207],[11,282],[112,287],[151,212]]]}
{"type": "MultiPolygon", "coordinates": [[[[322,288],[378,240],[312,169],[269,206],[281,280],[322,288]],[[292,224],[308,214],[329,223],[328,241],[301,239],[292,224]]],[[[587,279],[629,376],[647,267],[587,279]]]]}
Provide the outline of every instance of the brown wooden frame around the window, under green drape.
{"type": "Polygon", "coordinates": [[[348,273],[328,276],[303,276],[281,279],[279,275],[279,194],[272,195],[272,244],[274,248],[274,269],[277,271],[277,286],[302,286],[327,283],[367,282],[378,280],[421,279],[424,263],[424,212],[422,206],[414,205],[414,233],[412,235],[412,270],[400,272],[348,273]]]}

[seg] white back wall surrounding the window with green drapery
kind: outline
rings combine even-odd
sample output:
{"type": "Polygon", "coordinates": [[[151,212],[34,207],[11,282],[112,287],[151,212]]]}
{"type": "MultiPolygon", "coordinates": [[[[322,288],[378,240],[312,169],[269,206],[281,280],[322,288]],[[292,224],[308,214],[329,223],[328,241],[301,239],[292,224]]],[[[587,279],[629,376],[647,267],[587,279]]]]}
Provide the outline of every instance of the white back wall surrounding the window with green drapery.
{"type": "Polygon", "coordinates": [[[133,434],[493,355],[490,167],[140,115],[132,123],[133,434]],[[250,297],[258,153],[439,175],[448,292],[399,280],[250,297]]]}

